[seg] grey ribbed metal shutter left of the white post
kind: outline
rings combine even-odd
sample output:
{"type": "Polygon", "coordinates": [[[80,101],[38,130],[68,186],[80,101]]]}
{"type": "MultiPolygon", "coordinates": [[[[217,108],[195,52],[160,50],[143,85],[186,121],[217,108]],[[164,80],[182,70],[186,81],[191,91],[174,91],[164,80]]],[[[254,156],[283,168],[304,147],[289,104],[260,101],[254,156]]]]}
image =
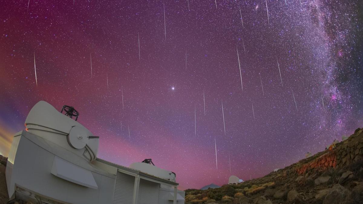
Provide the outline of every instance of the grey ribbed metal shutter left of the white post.
{"type": "Polygon", "coordinates": [[[121,172],[117,172],[114,204],[132,204],[132,194],[134,193],[135,177],[121,172]]]}

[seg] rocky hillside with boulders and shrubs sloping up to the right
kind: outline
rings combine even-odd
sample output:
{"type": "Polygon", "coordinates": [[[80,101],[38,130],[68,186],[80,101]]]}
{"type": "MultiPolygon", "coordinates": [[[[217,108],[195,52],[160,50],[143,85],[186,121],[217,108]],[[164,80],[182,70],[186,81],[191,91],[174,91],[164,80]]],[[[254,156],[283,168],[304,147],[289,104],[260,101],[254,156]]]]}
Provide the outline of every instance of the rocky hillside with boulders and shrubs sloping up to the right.
{"type": "Polygon", "coordinates": [[[331,150],[237,185],[187,189],[186,204],[363,204],[363,129],[331,150]]]}

